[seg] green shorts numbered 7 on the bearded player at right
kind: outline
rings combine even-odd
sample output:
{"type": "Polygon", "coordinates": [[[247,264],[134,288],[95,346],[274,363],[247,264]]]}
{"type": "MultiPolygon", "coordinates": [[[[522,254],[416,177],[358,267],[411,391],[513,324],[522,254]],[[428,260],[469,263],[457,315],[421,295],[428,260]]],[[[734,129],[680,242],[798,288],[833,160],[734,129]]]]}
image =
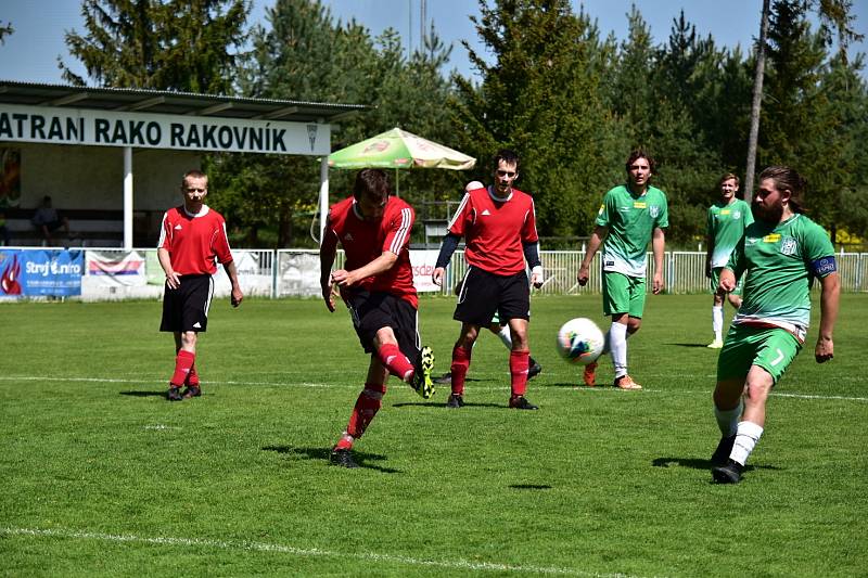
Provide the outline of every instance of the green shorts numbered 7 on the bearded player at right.
{"type": "Polygon", "coordinates": [[[758,365],[778,383],[801,349],[802,344],[787,330],[730,325],[717,358],[717,381],[743,380],[751,365],[758,365]]]}

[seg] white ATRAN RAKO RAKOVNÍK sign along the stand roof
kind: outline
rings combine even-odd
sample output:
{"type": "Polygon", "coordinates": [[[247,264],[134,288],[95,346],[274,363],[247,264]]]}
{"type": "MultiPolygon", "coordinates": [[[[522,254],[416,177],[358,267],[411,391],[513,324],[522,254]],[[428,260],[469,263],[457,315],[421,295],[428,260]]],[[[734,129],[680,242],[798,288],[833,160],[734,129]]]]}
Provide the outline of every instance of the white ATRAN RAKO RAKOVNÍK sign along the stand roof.
{"type": "Polygon", "coordinates": [[[328,155],[331,126],[0,104],[0,141],[328,155]]]}

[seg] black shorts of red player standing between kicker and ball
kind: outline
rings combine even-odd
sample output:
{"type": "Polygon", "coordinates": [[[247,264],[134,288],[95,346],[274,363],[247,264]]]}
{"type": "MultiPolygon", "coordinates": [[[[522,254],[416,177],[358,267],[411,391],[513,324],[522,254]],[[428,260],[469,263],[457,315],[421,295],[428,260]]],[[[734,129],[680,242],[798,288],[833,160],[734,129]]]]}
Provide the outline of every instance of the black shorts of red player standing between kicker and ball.
{"type": "Polygon", "coordinates": [[[452,319],[472,325],[487,326],[495,312],[501,324],[510,319],[531,319],[531,283],[527,273],[496,275],[477,267],[470,267],[452,319]]]}

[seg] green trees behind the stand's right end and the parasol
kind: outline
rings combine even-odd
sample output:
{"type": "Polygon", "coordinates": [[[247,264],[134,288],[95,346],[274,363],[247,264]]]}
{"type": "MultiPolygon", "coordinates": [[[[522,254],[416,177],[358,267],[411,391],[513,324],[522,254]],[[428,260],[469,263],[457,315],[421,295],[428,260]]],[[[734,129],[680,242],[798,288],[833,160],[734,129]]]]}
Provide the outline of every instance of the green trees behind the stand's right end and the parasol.
{"type": "MultiPolygon", "coordinates": [[[[400,37],[387,29],[378,38],[355,21],[335,23],[319,1],[279,0],[267,10],[268,26],[252,33],[253,50],[240,67],[246,97],[369,104],[370,112],[333,126],[337,150],[399,126],[455,146],[446,106],[450,84],[441,73],[449,50],[432,29],[422,50],[405,56],[400,37]]],[[[215,205],[230,222],[242,222],[247,243],[263,246],[260,227],[277,228],[278,247],[309,243],[305,229],[316,210],[319,163],[310,158],[260,155],[215,157],[209,170],[225,183],[215,205]],[[301,222],[299,222],[301,216],[301,222]],[[295,223],[295,228],[293,228],[295,223]]],[[[348,194],[355,171],[330,171],[332,198],[348,194]]],[[[462,178],[443,170],[403,171],[400,194],[410,202],[451,197],[462,178]]],[[[272,245],[273,246],[273,245],[272,245]]]]}

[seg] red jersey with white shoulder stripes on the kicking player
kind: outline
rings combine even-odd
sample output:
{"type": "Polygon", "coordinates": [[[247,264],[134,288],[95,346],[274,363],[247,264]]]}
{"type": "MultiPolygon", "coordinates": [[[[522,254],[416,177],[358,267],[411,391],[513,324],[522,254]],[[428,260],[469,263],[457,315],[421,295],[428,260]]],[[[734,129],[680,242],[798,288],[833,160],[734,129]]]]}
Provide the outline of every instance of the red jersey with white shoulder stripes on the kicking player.
{"type": "Polygon", "coordinates": [[[413,307],[419,299],[413,286],[413,271],[410,267],[410,231],[416,215],[413,208],[398,198],[390,196],[380,222],[362,220],[352,196],[332,205],[324,243],[340,241],[346,254],[344,269],[352,271],[363,267],[388,251],[398,256],[395,266],[388,271],[361,281],[358,286],[367,291],[392,293],[413,307]]]}

